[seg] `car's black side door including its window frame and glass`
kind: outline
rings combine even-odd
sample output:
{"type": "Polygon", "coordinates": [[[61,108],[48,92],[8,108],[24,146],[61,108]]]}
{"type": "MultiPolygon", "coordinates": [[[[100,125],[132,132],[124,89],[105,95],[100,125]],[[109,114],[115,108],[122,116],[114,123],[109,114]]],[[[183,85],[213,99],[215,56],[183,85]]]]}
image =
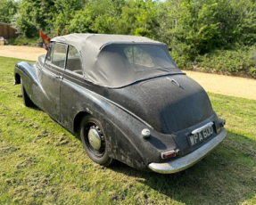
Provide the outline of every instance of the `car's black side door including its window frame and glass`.
{"type": "Polygon", "coordinates": [[[66,66],[67,48],[68,45],[51,44],[44,68],[38,76],[43,96],[37,104],[57,121],[61,120],[60,87],[66,66]]]}

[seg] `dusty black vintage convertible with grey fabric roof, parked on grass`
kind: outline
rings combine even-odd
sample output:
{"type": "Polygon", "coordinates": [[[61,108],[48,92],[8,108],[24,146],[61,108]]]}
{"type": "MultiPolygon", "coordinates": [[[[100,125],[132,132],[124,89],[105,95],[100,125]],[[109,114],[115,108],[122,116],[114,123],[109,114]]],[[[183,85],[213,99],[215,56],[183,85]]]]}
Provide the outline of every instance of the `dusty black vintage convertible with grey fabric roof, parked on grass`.
{"type": "Polygon", "coordinates": [[[91,160],[120,160],[159,173],[188,168],[227,135],[203,90],[178,69],[168,46],[146,37],[54,37],[37,63],[18,62],[26,106],[72,133],[91,160]]]}

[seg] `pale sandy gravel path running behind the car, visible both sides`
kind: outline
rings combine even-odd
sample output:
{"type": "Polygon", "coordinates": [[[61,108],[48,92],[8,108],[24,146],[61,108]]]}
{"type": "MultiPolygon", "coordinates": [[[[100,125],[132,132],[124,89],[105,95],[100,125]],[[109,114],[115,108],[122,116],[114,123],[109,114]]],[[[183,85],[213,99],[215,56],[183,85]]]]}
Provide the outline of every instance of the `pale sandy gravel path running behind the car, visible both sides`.
{"type": "MultiPolygon", "coordinates": [[[[37,61],[45,54],[44,48],[29,46],[0,46],[0,56],[37,61]]],[[[187,71],[187,76],[197,81],[206,91],[256,100],[256,79],[222,76],[218,74],[187,71]]]]}

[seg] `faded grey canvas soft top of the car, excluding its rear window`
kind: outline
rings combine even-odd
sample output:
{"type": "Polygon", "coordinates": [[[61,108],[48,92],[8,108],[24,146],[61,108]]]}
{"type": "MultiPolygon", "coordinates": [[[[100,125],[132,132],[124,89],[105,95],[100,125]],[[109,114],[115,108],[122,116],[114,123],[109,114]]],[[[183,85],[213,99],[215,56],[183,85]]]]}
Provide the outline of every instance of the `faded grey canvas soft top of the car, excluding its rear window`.
{"type": "MultiPolygon", "coordinates": [[[[169,56],[167,45],[147,37],[104,34],[70,34],[54,37],[52,42],[75,46],[81,54],[85,78],[96,85],[120,87],[126,86],[140,78],[150,78],[162,73],[180,72],[175,62],[169,56]],[[130,69],[128,58],[123,52],[125,46],[148,45],[148,52],[152,49],[161,49],[168,61],[171,61],[171,70],[149,70],[135,73],[130,69]],[[153,45],[153,46],[151,46],[153,45]]],[[[158,55],[157,53],[153,55],[158,55]]],[[[158,56],[159,58],[159,56],[158,56]]],[[[161,63],[160,63],[161,64],[161,63]]],[[[166,63],[165,63],[166,65],[166,63]]],[[[162,65],[162,67],[164,67],[162,65]]]]}

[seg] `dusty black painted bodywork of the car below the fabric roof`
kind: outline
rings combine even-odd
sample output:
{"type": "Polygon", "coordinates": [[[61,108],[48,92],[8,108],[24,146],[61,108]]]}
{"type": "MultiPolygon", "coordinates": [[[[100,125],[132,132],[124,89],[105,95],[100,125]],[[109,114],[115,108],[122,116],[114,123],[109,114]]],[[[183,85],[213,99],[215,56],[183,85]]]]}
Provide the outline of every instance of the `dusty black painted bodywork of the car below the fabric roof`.
{"type": "Polygon", "coordinates": [[[181,71],[113,88],[95,85],[85,75],[54,65],[47,61],[49,54],[51,49],[37,63],[18,62],[15,83],[22,79],[30,100],[70,132],[79,132],[86,115],[98,119],[109,156],[133,168],[150,171],[151,163],[181,159],[211,143],[224,129],[202,86],[181,71]],[[193,130],[210,122],[213,133],[191,146],[188,139],[193,130]],[[151,132],[147,139],[141,135],[145,128],[151,132]],[[161,158],[161,152],[176,150],[181,151],[176,157],[161,158]]]}

